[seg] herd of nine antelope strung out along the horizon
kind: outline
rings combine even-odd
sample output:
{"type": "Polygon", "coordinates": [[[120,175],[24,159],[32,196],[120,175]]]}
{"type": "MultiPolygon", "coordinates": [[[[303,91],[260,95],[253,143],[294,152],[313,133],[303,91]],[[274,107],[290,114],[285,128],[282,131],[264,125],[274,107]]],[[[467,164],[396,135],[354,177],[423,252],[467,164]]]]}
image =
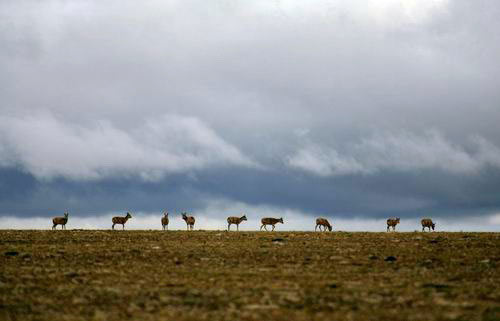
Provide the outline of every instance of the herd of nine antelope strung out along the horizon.
{"type": "MultiPolygon", "coordinates": [[[[186,212],[182,212],[181,215],[182,215],[182,219],[186,222],[187,230],[192,231],[194,229],[194,223],[196,222],[194,216],[188,216],[186,212]]],[[[52,229],[54,230],[54,229],[56,229],[57,225],[61,225],[61,228],[63,230],[65,230],[66,223],[68,222],[68,216],[69,216],[69,213],[65,212],[64,216],[54,217],[52,219],[52,223],[54,223],[54,225],[52,226],[52,229]]],[[[113,225],[111,225],[111,229],[114,230],[116,224],[121,224],[122,229],[124,230],[125,223],[127,223],[127,221],[130,218],[132,218],[132,215],[128,212],[127,212],[127,215],[125,215],[125,216],[113,217],[111,219],[111,222],[113,223],[113,225]]],[[[235,224],[236,230],[239,231],[240,223],[243,221],[247,221],[246,215],[229,216],[227,218],[227,230],[230,231],[231,225],[235,224]]],[[[391,230],[391,227],[392,227],[393,231],[396,231],[396,225],[399,224],[399,221],[400,221],[399,217],[389,218],[387,220],[387,232],[389,232],[391,230]]],[[[266,227],[267,225],[271,225],[272,226],[271,231],[274,231],[276,224],[278,224],[278,223],[284,224],[282,217],[280,217],[280,218],[264,217],[263,219],[260,220],[260,222],[262,223],[262,225],[260,226],[261,231],[262,231],[262,228],[264,228],[267,231],[267,227],[266,227]]],[[[163,216],[161,218],[161,225],[162,225],[163,230],[165,230],[165,229],[168,230],[168,223],[169,223],[168,212],[165,212],[165,213],[163,213],[163,216]]],[[[429,232],[431,231],[431,228],[434,231],[434,228],[436,227],[436,224],[434,222],[432,222],[432,220],[430,218],[424,218],[420,221],[420,223],[422,224],[422,232],[425,231],[425,228],[428,228],[429,232]]],[[[328,222],[328,220],[326,218],[323,218],[323,217],[319,217],[316,219],[316,227],[314,228],[314,231],[317,231],[318,228],[322,232],[326,232],[327,230],[331,232],[333,229],[330,222],[328,222]]]]}

